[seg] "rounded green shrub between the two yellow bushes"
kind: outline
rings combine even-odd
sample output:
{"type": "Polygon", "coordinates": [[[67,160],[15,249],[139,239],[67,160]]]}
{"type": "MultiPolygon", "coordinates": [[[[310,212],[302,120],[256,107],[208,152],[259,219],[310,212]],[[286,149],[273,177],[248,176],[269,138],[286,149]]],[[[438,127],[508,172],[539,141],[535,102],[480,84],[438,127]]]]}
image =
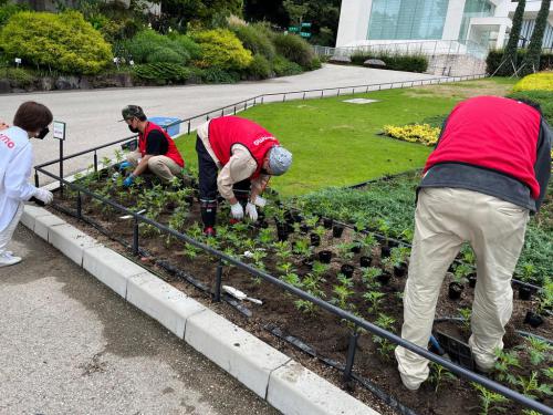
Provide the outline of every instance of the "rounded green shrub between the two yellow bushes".
{"type": "Polygon", "coordinates": [[[135,63],[180,63],[186,64],[190,54],[182,43],[159,34],[152,29],[138,32],[123,43],[135,63]]]}

